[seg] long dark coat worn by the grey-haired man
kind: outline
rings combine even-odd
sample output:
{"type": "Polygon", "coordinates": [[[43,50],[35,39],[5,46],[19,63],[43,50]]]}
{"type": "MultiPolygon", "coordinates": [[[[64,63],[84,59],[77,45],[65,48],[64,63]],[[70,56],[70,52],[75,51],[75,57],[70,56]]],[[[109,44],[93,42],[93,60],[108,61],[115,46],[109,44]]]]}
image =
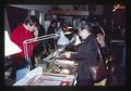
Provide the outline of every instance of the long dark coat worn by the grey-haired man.
{"type": "Polygon", "coordinates": [[[78,79],[91,79],[87,64],[98,64],[98,49],[94,36],[90,35],[84,42],[79,46],[78,54],[71,54],[70,60],[79,62],[78,79]]]}

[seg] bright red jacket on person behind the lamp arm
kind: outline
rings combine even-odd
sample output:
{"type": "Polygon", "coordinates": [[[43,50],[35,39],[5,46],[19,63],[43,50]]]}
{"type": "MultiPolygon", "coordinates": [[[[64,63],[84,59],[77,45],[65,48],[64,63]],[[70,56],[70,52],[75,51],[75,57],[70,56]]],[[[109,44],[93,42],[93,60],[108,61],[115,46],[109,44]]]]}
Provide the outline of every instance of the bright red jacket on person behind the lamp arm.
{"type": "MultiPolygon", "coordinates": [[[[11,40],[22,49],[22,52],[20,53],[20,56],[22,58],[24,58],[25,56],[23,41],[31,38],[34,38],[34,35],[29,30],[26,30],[23,25],[17,26],[11,34],[11,40]]],[[[33,42],[27,44],[29,57],[32,57],[33,50],[37,46],[37,43],[38,42],[33,42]]]]}

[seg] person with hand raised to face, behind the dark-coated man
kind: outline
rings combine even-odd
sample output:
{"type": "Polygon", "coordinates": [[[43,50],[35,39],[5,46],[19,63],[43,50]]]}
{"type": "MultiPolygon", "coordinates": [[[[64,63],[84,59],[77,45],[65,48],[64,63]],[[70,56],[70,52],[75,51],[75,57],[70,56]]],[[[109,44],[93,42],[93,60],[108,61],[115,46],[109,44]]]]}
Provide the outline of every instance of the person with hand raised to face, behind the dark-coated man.
{"type": "Polygon", "coordinates": [[[103,29],[103,27],[100,26],[93,26],[92,27],[92,32],[94,34],[96,40],[97,40],[97,43],[98,43],[98,47],[99,47],[99,50],[100,50],[100,53],[102,53],[102,56],[103,56],[103,61],[106,65],[106,68],[107,72],[107,81],[106,81],[106,84],[110,84],[111,80],[112,80],[112,65],[111,65],[111,54],[110,54],[110,51],[109,51],[109,46],[108,46],[108,40],[105,38],[105,31],[103,29]]]}

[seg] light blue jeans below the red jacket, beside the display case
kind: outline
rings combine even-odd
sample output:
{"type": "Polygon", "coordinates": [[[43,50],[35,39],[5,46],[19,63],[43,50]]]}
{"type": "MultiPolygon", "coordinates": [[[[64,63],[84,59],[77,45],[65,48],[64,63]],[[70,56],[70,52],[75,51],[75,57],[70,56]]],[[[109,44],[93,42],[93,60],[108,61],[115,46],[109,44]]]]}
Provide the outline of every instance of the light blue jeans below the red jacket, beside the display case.
{"type": "Polygon", "coordinates": [[[17,69],[15,81],[19,81],[20,79],[22,79],[26,75],[26,73],[27,73],[27,67],[17,69]]]}

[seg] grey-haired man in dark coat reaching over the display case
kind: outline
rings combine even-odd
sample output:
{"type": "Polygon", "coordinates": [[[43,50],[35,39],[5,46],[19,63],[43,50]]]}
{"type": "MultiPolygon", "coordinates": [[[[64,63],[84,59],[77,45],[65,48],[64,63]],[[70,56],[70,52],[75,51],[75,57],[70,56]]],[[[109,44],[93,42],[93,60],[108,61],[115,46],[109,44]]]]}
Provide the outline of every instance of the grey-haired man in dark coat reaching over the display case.
{"type": "Polygon", "coordinates": [[[64,53],[64,55],[70,60],[79,62],[76,86],[93,86],[94,82],[87,64],[98,64],[97,43],[86,23],[80,24],[79,36],[82,38],[83,42],[79,46],[78,53],[64,53]]]}

